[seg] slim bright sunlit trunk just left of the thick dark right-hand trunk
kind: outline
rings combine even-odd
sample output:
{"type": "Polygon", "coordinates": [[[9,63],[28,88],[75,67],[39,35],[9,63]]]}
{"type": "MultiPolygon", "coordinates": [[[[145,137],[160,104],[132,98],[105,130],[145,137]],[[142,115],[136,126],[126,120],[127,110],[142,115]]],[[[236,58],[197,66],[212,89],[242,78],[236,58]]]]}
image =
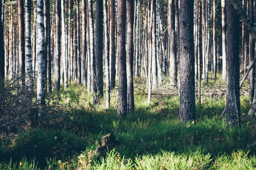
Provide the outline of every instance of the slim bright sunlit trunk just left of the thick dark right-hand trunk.
{"type": "Polygon", "coordinates": [[[222,24],[222,79],[226,79],[226,10],[225,10],[225,1],[221,0],[221,24],[222,24]]]}

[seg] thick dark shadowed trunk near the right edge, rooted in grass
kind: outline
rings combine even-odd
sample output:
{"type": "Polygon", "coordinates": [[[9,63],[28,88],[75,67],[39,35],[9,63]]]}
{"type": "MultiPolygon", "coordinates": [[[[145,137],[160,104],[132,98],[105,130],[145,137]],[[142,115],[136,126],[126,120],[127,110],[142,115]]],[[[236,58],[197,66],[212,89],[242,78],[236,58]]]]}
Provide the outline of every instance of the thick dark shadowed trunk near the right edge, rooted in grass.
{"type": "Polygon", "coordinates": [[[227,123],[240,121],[239,98],[239,23],[238,15],[227,0],[227,123]]]}

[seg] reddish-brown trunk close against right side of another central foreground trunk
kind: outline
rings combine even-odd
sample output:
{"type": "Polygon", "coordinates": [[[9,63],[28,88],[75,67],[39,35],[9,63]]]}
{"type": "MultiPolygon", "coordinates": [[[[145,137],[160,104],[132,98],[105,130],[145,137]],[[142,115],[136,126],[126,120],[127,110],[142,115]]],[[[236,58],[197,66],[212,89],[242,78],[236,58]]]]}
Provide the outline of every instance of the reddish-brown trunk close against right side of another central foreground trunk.
{"type": "Polygon", "coordinates": [[[134,4],[133,0],[127,0],[127,111],[134,109],[134,85],[133,85],[133,64],[134,64],[134,44],[133,44],[133,26],[134,26],[134,4]]]}

